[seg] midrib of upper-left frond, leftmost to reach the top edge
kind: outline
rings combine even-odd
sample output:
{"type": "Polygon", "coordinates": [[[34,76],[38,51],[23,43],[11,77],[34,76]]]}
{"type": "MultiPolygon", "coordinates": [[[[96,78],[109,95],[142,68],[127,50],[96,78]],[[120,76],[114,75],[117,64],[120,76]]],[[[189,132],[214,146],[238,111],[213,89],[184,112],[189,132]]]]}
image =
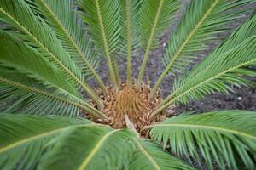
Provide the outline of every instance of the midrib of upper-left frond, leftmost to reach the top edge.
{"type": "Polygon", "coordinates": [[[92,74],[96,77],[96,81],[99,83],[100,87],[104,92],[106,92],[106,88],[104,87],[104,84],[102,82],[102,79],[99,77],[99,75],[96,73],[96,70],[90,65],[90,62],[88,59],[86,59],[84,53],[79,48],[78,44],[74,41],[73,37],[68,33],[67,29],[62,25],[61,21],[58,19],[58,17],[55,15],[55,13],[49,8],[48,4],[44,2],[44,0],[40,0],[41,3],[44,4],[44,7],[47,8],[51,16],[55,19],[57,25],[61,27],[61,30],[65,33],[69,41],[72,43],[73,48],[75,48],[75,51],[77,54],[79,54],[80,58],[84,61],[85,65],[87,65],[92,72],[92,74]]]}

